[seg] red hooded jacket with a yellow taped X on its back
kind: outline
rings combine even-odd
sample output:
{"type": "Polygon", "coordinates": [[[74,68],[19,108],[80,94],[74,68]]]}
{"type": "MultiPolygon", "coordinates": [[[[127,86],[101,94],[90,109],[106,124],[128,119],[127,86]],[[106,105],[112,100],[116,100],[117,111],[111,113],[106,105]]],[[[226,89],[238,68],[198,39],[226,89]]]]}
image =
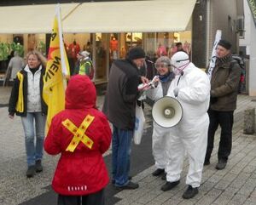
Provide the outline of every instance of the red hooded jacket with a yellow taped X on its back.
{"type": "Polygon", "coordinates": [[[55,115],[44,141],[44,149],[50,155],[61,153],[52,181],[53,189],[61,195],[88,195],[108,185],[108,170],[102,154],[109,148],[111,129],[107,117],[95,107],[96,88],[89,77],[72,77],[66,90],[65,110],[55,115]],[[89,115],[94,119],[85,132],[76,132],[89,115]],[[66,120],[68,123],[64,125],[66,120]],[[70,124],[74,126],[71,129],[70,124]],[[79,134],[90,139],[89,145],[79,134]],[[71,142],[77,138],[79,143],[70,151],[71,142]]]}

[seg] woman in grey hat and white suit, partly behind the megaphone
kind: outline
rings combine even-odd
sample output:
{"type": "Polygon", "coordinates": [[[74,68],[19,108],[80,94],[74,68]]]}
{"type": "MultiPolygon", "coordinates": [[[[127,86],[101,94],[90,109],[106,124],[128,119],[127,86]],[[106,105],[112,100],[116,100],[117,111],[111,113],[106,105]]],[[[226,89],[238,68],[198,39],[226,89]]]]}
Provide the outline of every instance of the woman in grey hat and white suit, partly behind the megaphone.
{"type": "MultiPolygon", "coordinates": [[[[146,92],[148,98],[154,101],[166,96],[172,79],[175,77],[171,71],[171,60],[167,56],[161,56],[157,59],[155,61],[155,68],[159,75],[155,79],[157,86],[146,92]]],[[[153,122],[152,151],[156,170],[152,174],[153,176],[162,175],[162,179],[166,179],[166,138],[168,138],[169,133],[169,128],[162,128],[156,122],[153,122]]]]}

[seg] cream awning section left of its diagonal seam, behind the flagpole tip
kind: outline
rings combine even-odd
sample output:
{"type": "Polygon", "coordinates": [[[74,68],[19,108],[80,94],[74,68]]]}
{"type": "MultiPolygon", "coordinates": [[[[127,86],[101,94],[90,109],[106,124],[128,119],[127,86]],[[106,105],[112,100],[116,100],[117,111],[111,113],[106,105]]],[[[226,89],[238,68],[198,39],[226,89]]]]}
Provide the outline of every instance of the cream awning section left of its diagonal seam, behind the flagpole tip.
{"type": "MultiPolygon", "coordinates": [[[[79,3],[61,4],[62,17],[79,3]]],[[[55,4],[0,7],[0,33],[50,33],[55,16],[55,4]]]]}

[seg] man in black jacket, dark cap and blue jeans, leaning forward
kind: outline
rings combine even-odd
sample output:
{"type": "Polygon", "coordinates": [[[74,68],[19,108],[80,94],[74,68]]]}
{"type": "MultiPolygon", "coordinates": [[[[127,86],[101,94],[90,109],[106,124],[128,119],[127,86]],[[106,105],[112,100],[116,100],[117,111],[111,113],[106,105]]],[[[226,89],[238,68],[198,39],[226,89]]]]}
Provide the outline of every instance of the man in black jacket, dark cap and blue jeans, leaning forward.
{"type": "Polygon", "coordinates": [[[131,139],[135,125],[137,86],[148,83],[139,75],[145,53],[143,48],[131,48],[125,60],[115,60],[109,74],[107,94],[102,111],[113,123],[112,183],[118,189],[137,189],[129,179],[131,139]]]}

